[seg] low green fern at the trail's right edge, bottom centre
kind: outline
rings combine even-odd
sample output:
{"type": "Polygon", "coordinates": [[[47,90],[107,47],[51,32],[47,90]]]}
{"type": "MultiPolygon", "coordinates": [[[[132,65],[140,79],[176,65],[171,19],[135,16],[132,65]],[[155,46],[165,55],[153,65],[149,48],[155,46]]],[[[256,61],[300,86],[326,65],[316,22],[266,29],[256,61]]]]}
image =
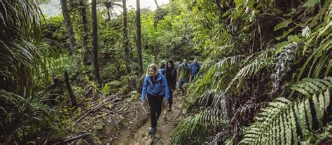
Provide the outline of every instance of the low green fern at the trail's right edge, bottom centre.
{"type": "Polygon", "coordinates": [[[195,114],[195,116],[185,118],[171,133],[172,144],[184,142],[189,139],[188,137],[195,137],[202,143],[207,134],[214,132],[216,127],[226,123],[219,116],[218,110],[208,109],[195,114]]]}

